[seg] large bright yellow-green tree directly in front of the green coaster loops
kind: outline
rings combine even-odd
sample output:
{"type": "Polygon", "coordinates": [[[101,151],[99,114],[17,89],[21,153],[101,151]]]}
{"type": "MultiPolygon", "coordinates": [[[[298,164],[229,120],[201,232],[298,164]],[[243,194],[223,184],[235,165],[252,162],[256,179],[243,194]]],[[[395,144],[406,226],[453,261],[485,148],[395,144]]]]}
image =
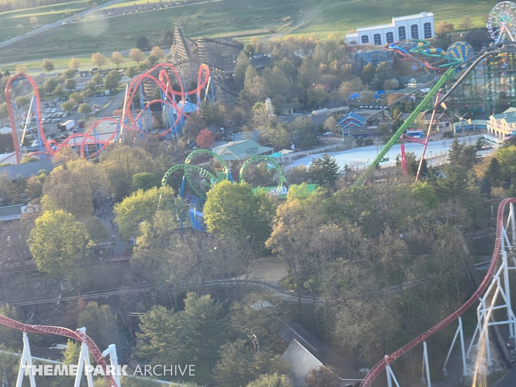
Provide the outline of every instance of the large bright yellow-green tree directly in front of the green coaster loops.
{"type": "Polygon", "coordinates": [[[270,235],[274,212],[275,205],[265,192],[253,193],[245,182],[222,181],[207,193],[204,222],[216,237],[243,241],[259,252],[270,235]]]}

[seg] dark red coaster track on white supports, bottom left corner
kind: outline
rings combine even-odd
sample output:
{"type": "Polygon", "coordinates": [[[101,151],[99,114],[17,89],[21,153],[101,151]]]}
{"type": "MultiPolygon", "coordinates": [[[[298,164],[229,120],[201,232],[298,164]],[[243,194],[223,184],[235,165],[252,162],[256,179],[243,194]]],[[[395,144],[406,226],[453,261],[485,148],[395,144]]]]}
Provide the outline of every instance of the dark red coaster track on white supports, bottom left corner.
{"type": "MultiPolygon", "coordinates": [[[[27,333],[42,333],[42,334],[58,334],[60,336],[65,336],[69,338],[73,338],[74,340],[80,341],[81,343],[86,344],[88,347],[88,350],[93,355],[93,358],[95,358],[95,361],[97,364],[99,364],[103,369],[104,372],[106,371],[107,362],[102,357],[102,352],[100,351],[99,347],[96,346],[95,342],[91,340],[91,337],[88,336],[85,333],[79,332],[79,331],[72,331],[70,329],[66,328],[60,328],[60,327],[49,327],[45,325],[27,325],[22,324],[21,322],[12,320],[8,317],[2,316],[0,314],[0,324],[5,325],[9,328],[17,329],[19,331],[27,332],[27,333]]],[[[111,387],[116,387],[115,379],[111,375],[106,375],[105,378],[107,379],[108,385],[111,387]]]]}

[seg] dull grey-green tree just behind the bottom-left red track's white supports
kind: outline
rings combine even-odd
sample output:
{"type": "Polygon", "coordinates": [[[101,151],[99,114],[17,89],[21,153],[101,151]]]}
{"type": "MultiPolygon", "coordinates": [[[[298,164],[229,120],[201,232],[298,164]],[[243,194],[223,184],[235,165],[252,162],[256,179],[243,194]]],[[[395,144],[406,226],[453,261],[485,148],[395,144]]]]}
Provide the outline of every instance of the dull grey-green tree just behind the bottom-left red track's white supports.
{"type": "Polygon", "coordinates": [[[117,316],[109,305],[99,306],[95,301],[89,302],[79,313],[78,327],[86,327],[90,336],[99,348],[107,348],[115,341],[118,333],[117,316]]]}

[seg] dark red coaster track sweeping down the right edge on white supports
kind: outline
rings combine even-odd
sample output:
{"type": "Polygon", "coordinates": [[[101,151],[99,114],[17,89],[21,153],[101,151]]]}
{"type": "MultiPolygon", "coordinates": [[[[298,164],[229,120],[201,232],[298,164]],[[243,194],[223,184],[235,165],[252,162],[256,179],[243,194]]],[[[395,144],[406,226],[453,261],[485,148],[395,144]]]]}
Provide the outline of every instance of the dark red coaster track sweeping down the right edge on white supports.
{"type": "Polygon", "coordinates": [[[498,262],[498,255],[501,253],[501,246],[502,246],[502,229],[504,227],[504,211],[505,206],[509,203],[516,203],[516,199],[510,198],[510,199],[504,199],[500,205],[498,206],[498,216],[496,218],[496,241],[494,245],[494,251],[493,251],[493,258],[491,260],[491,265],[489,265],[489,270],[487,271],[486,276],[484,277],[482,283],[478,287],[478,289],[473,293],[473,295],[462,304],[462,306],[457,309],[455,312],[450,314],[448,317],[446,317],[441,322],[438,322],[438,324],[434,325],[432,328],[427,330],[425,333],[421,334],[420,336],[417,336],[412,340],[410,343],[406,344],[405,346],[401,347],[397,351],[391,353],[389,356],[386,356],[384,359],[380,360],[371,370],[370,372],[365,376],[364,380],[360,384],[360,387],[370,387],[370,385],[373,383],[373,381],[380,375],[380,373],[385,369],[385,367],[388,364],[391,364],[393,361],[401,357],[403,354],[410,351],[412,348],[414,348],[416,345],[423,343],[426,341],[430,336],[434,335],[435,333],[439,332],[441,329],[446,327],[451,321],[456,320],[459,318],[467,309],[469,309],[475,302],[478,302],[478,299],[480,298],[481,294],[486,291],[487,287],[489,286],[489,283],[491,282],[494,271],[496,269],[496,264],[498,262]]]}

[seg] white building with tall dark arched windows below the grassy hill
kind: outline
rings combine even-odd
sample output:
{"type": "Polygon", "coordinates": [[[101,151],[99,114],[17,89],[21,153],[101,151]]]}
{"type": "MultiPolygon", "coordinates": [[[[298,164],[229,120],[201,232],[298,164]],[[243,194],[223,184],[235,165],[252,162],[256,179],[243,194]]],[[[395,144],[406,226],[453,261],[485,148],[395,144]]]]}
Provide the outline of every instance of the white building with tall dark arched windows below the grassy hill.
{"type": "Polygon", "coordinates": [[[384,45],[405,39],[431,39],[433,35],[433,13],[421,12],[392,18],[389,24],[358,27],[356,33],[346,34],[346,42],[348,46],[384,45]]]}

